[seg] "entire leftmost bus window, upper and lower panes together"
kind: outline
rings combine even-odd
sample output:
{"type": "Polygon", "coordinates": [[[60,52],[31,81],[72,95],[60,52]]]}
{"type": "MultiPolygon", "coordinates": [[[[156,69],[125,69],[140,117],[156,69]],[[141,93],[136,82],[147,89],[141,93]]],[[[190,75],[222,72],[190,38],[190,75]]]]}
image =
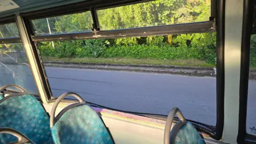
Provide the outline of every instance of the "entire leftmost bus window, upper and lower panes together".
{"type": "MultiPolygon", "coordinates": [[[[0,85],[17,84],[38,94],[15,19],[0,21],[0,85]]],[[[18,91],[9,88],[10,91],[18,91]]]]}

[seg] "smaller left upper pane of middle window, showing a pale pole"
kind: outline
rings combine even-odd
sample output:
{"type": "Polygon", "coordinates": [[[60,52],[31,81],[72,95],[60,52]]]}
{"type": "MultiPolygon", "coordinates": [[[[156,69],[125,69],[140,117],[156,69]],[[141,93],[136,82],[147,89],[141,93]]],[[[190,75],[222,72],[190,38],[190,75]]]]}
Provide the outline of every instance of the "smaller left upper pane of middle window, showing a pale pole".
{"type": "Polygon", "coordinates": [[[90,11],[32,21],[36,35],[91,31],[92,23],[90,11]]]}

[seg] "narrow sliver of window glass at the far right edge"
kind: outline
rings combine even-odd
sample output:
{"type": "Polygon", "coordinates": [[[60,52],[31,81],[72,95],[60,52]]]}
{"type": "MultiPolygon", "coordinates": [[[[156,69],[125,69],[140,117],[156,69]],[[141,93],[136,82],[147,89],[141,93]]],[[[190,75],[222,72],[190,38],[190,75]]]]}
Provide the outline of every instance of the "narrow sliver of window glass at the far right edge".
{"type": "Polygon", "coordinates": [[[256,135],[256,35],[251,36],[250,50],[250,74],[248,85],[248,103],[247,103],[247,133],[256,135]]]}

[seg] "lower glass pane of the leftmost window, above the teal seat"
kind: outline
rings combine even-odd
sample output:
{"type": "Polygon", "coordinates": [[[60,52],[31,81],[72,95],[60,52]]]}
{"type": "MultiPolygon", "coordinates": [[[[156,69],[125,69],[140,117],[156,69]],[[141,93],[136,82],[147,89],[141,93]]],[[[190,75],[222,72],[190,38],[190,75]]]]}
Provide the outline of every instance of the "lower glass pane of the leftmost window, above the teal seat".
{"type": "Polygon", "coordinates": [[[17,84],[31,94],[38,94],[26,52],[21,43],[0,44],[0,70],[1,86],[17,84]]]}

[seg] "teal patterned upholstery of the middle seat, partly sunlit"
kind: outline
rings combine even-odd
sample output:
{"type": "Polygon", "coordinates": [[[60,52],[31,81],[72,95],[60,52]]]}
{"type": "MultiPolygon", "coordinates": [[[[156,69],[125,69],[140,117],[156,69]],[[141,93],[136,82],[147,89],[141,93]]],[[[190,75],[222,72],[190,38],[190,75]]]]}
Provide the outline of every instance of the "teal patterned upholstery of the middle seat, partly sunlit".
{"type": "Polygon", "coordinates": [[[68,109],[51,130],[56,144],[113,143],[98,114],[86,104],[68,109]]]}

